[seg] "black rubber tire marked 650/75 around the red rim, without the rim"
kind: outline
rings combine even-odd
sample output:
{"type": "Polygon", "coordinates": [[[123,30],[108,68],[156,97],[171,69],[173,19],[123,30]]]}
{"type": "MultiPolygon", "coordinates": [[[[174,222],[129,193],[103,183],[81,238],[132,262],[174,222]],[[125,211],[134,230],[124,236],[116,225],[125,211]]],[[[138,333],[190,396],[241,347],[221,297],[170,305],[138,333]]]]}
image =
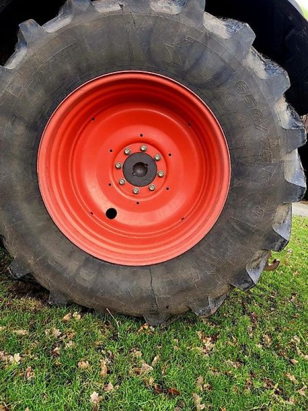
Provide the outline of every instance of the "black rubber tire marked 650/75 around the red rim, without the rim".
{"type": "Polygon", "coordinates": [[[43,27],[23,23],[0,67],[0,234],[15,257],[11,274],[32,273],[53,304],[143,315],[153,325],[189,309],[209,315],[232,287],[253,287],[270,250],[288,242],[291,202],[305,191],[297,147],[306,134],[283,97],[287,74],[252,48],[247,24],[204,14],[204,0],[184,3],[70,0],[43,27]],[[146,267],[109,264],[74,246],[37,184],[38,144],[56,106],[89,79],[126,69],[196,92],[219,119],[232,161],[214,228],[186,253],[146,267]]]}

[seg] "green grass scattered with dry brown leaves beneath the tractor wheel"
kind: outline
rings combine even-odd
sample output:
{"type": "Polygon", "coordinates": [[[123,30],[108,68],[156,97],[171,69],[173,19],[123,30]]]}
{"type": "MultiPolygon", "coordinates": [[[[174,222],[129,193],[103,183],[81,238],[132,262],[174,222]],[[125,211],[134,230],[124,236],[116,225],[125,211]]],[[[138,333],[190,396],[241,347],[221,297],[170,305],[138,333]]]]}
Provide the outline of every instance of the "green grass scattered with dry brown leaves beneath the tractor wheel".
{"type": "Polygon", "coordinates": [[[0,251],[0,410],[306,411],[307,238],[294,218],[277,271],[210,319],[164,330],[50,308],[40,286],[11,281],[0,251]]]}

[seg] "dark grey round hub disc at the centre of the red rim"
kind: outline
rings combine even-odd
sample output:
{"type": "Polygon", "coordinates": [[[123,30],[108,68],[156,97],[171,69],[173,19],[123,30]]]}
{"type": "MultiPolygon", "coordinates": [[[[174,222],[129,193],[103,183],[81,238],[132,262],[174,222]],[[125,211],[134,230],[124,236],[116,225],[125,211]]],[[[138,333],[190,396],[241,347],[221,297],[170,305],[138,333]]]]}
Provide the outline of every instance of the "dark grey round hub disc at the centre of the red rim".
{"type": "Polygon", "coordinates": [[[136,187],[150,184],[156,177],[157,165],[155,160],[146,153],[131,154],[123,164],[125,179],[136,187]]]}

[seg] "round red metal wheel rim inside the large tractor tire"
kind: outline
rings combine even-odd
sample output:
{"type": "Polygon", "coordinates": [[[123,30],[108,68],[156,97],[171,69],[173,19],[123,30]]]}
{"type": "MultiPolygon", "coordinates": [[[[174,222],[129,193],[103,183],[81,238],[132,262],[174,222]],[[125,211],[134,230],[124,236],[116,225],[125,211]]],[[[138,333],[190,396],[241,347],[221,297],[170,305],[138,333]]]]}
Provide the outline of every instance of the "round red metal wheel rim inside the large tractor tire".
{"type": "Polygon", "coordinates": [[[222,128],[196,94],[158,74],[124,71],[85,83],[56,108],[37,173],[51,218],[73,244],[142,266],[179,256],[214,226],[230,158],[222,128]],[[146,185],[136,185],[139,178],[146,185]]]}

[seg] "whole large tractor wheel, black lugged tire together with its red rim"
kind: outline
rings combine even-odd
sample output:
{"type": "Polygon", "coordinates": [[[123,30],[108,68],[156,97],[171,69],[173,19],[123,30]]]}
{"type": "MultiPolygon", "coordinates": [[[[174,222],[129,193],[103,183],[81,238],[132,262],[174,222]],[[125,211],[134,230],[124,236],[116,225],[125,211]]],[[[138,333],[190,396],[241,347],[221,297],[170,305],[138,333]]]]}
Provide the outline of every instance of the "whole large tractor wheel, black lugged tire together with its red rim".
{"type": "Polygon", "coordinates": [[[287,73],[204,6],[69,0],[20,25],[0,67],[0,234],[51,304],[207,316],[286,246],[306,139],[287,73]]]}

